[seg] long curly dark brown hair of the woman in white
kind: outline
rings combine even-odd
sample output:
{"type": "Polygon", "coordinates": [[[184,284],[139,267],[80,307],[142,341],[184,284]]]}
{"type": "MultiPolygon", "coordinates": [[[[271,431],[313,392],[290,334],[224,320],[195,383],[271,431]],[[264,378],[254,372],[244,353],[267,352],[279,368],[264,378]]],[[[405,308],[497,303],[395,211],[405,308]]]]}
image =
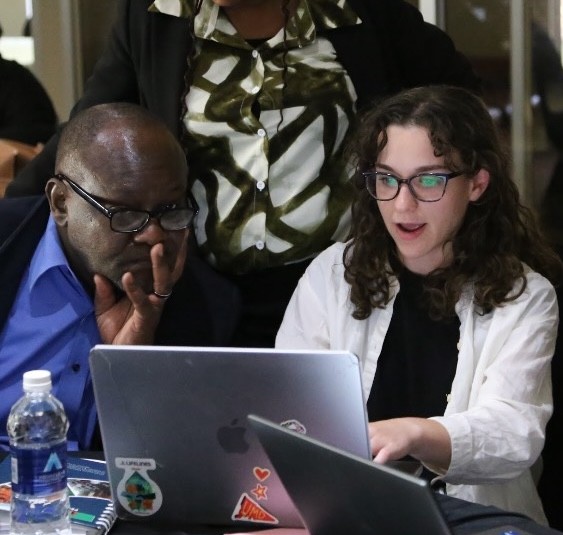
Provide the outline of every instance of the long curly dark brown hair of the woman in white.
{"type": "Polygon", "coordinates": [[[380,101],[360,117],[348,153],[356,165],[350,241],[344,251],[345,279],[351,285],[353,316],[365,319],[391,299],[391,277],[402,269],[377,201],[365,187],[363,171],[373,169],[387,143],[387,127],[425,128],[436,156],[452,171],[490,174],[489,185],[470,203],[452,241],[453,262],[425,278],[425,296],[434,318],[455,315],[463,287],[472,283],[482,313],[516,299],[526,289],[523,262],[553,284],[561,260],[547,243],[530,209],[520,202],[510,162],[483,101],[450,86],[409,89],[380,101]],[[513,288],[515,288],[513,291],[513,288]]]}

